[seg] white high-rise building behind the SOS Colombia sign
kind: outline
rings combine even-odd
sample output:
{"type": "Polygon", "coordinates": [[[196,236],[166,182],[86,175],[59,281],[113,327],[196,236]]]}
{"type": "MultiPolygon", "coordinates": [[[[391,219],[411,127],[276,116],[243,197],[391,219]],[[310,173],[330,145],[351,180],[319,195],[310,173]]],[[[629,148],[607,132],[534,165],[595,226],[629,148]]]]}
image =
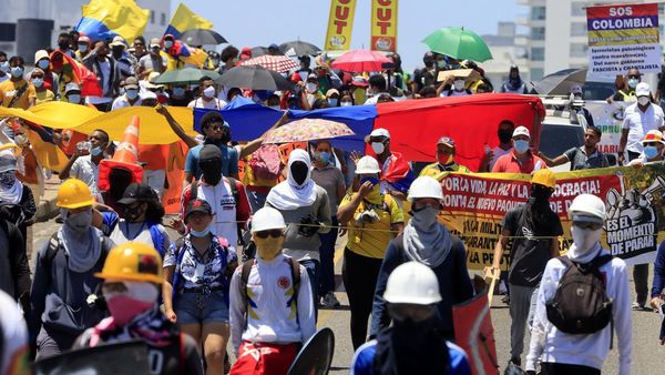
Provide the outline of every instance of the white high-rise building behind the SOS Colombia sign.
{"type": "MultiPolygon", "coordinates": [[[[586,36],[586,7],[593,4],[654,2],[653,0],[518,0],[526,7],[526,14],[515,22],[524,29],[524,36],[515,38],[515,44],[528,53],[531,80],[562,69],[586,68],[589,64],[586,36]]],[[[658,6],[663,14],[663,4],[658,6]]],[[[659,17],[661,36],[664,18],[659,17]]],[[[520,30],[522,31],[522,30],[520,30]]],[[[661,39],[663,43],[663,39],[661,39]]]]}

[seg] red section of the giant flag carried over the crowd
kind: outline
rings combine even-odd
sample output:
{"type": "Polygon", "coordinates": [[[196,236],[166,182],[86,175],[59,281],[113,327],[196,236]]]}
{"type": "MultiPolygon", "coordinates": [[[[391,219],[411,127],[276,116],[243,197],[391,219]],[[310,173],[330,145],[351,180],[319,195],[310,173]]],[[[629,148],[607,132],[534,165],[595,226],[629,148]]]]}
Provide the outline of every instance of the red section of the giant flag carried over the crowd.
{"type": "Polygon", "coordinates": [[[484,145],[499,145],[497,130],[502,120],[526,126],[538,150],[545,110],[538,97],[487,93],[379,103],[374,128],[390,132],[390,151],[400,152],[403,159],[434,162],[437,140],[446,135],[454,139],[456,161],[478,171],[484,145]]]}

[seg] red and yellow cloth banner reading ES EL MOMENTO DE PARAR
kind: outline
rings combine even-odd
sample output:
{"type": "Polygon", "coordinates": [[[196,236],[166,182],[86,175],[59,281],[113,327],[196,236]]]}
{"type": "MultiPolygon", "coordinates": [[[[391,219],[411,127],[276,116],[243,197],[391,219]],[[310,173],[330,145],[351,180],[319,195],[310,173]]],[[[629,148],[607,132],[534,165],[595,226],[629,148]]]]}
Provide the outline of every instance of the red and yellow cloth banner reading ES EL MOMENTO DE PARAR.
{"type": "MultiPolygon", "coordinates": [[[[550,203],[561,219],[562,250],[572,243],[567,209],[575,196],[589,193],[607,207],[602,244],[627,264],[651,263],[658,242],[665,239],[665,164],[622,166],[556,173],[556,189],[550,203]]],[[[443,211],[439,220],[467,246],[470,270],[483,270],[493,261],[508,210],[525,202],[530,194],[528,174],[450,173],[441,176],[443,211]]],[[[501,268],[508,270],[509,252],[501,268]]]]}

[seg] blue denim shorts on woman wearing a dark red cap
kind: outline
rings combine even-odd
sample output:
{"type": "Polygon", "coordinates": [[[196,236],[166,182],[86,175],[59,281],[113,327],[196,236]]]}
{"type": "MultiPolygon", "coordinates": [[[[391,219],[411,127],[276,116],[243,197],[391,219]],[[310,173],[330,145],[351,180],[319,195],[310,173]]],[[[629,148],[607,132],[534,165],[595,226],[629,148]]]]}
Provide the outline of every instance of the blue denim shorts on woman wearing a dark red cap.
{"type": "Polygon", "coordinates": [[[228,305],[223,291],[213,292],[203,308],[196,305],[196,293],[184,292],[175,297],[175,314],[181,324],[228,323],[228,305]]]}

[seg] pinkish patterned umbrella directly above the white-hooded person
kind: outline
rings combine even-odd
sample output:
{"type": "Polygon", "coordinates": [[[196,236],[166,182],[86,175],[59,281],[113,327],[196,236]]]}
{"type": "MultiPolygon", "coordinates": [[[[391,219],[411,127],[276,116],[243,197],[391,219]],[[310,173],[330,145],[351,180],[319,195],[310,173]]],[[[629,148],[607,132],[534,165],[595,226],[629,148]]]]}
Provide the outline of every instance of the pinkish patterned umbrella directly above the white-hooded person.
{"type": "Polygon", "coordinates": [[[269,131],[264,143],[290,143],[354,135],[341,122],[323,119],[301,119],[269,131]]]}

